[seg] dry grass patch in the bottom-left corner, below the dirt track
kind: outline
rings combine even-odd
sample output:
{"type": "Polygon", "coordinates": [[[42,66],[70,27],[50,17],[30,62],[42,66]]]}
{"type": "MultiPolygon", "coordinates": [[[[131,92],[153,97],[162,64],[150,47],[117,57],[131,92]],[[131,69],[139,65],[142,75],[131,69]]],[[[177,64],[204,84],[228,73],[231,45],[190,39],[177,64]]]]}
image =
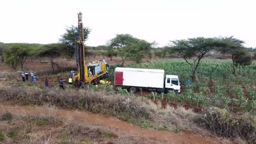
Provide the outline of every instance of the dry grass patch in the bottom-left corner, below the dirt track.
{"type": "Polygon", "coordinates": [[[0,121],[0,131],[5,137],[0,143],[162,143],[118,129],[76,122],[72,117],[59,118],[51,113],[12,115],[12,122],[0,121]]]}

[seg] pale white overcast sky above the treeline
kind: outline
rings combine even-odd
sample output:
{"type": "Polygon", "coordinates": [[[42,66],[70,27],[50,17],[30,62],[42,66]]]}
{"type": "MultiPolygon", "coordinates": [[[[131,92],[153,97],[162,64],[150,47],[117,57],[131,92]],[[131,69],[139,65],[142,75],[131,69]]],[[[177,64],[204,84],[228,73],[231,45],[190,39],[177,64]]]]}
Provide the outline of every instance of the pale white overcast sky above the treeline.
{"type": "Polygon", "coordinates": [[[159,46],[169,40],[234,35],[256,47],[253,0],[0,0],[0,41],[57,43],[83,13],[86,45],[104,45],[129,33],[159,46]]]}

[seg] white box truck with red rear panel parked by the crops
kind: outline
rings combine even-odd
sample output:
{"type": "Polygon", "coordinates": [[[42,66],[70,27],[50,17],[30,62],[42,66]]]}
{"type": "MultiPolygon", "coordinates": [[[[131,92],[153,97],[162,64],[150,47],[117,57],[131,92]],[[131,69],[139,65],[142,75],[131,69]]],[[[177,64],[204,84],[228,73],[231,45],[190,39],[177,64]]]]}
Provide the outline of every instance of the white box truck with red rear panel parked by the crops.
{"type": "Polygon", "coordinates": [[[181,92],[178,76],[165,76],[165,70],[162,69],[115,68],[115,86],[127,88],[132,93],[140,88],[158,92],[181,92]]]}

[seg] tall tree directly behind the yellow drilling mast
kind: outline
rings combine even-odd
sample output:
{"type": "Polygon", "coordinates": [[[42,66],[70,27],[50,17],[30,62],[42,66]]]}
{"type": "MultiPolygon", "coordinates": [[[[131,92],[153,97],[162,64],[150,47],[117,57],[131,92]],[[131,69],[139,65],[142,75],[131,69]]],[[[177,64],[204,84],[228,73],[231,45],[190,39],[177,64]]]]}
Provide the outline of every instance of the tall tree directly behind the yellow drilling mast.
{"type": "MultiPolygon", "coordinates": [[[[84,27],[84,41],[88,39],[88,36],[91,32],[91,29],[88,27],[84,27]]],[[[68,58],[72,58],[74,56],[74,47],[75,41],[77,39],[78,33],[78,27],[70,26],[66,28],[66,33],[61,35],[60,42],[62,44],[65,44],[66,47],[63,49],[63,54],[65,54],[68,58]]],[[[86,48],[86,47],[85,47],[86,48]]]]}

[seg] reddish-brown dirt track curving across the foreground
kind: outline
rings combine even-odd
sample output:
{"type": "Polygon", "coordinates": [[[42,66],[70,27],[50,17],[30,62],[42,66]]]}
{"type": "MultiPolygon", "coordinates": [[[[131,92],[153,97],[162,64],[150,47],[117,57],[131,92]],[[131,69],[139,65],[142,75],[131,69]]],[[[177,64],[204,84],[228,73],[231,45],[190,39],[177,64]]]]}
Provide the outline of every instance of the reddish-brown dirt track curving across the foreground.
{"type": "MultiPolygon", "coordinates": [[[[1,105],[1,104],[0,104],[1,105]]],[[[126,131],[133,135],[138,135],[142,137],[150,137],[164,143],[222,143],[218,139],[213,137],[200,137],[190,131],[183,131],[179,134],[173,134],[168,131],[142,129],[138,126],[132,125],[130,123],[119,121],[117,118],[106,117],[104,115],[88,113],[85,111],[75,111],[75,110],[62,110],[62,109],[44,109],[42,107],[25,107],[25,106],[12,106],[12,105],[1,105],[0,113],[4,111],[9,111],[13,113],[33,113],[40,114],[45,113],[49,115],[56,115],[59,118],[71,118],[75,122],[87,122],[91,124],[101,124],[104,127],[112,127],[119,129],[121,131],[126,131]]],[[[161,142],[161,143],[162,143],[161,142]]]]}

